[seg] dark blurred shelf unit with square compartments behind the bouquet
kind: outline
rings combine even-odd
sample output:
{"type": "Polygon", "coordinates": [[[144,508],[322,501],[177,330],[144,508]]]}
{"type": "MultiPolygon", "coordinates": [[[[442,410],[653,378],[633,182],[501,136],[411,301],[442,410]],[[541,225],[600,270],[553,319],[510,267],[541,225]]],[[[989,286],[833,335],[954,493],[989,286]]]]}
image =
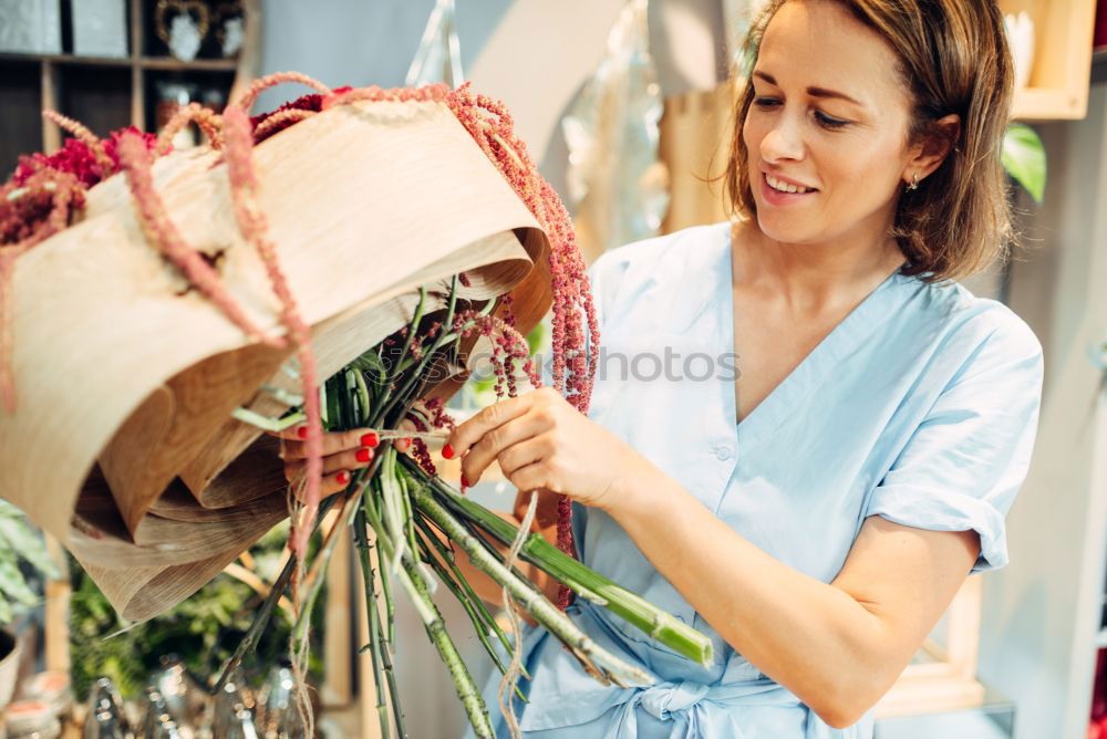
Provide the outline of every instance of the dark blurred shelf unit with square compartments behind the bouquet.
{"type": "Polygon", "coordinates": [[[20,154],[62,146],[66,134],[42,118],[43,110],[103,136],[126,125],[156,131],[180,103],[221,108],[258,75],[260,8],[261,0],[0,0],[0,27],[8,25],[0,29],[0,180],[20,154]],[[210,22],[231,15],[241,22],[210,22]],[[23,38],[13,30],[28,17],[51,25],[46,41],[35,41],[41,29],[23,38]],[[106,43],[118,54],[81,53],[93,32],[101,34],[100,48],[106,43]],[[184,38],[187,46],[189,33],[198,53],[190,61],[173,56],[165,39],[180,44],[184,38]],[[225,58],[223,44],[232,33],[240,42],[225,58]]]}

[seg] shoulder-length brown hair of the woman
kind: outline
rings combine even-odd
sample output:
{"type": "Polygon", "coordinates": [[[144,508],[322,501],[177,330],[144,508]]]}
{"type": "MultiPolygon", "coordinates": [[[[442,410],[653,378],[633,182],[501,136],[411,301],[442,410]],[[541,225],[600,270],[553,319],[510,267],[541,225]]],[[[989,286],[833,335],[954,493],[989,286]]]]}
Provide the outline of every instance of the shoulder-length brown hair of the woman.
{"type": "MultiPolygon", "coordinates": [[[[959,279],[1006,258],[1014,239],[1006,176],[1000,162],[1011,115],[1013,72],[995,0],[832,0],[879,33],[899,56],[913,112],[911,144],[942,135],[934,122],[961,116],[958,140],[942,164],[904,194],[889,236],[908,259],[902,274],[927,282],[959,279]]],[[[756,215],[742,137],[754,100],[748,81],[765,29],[788,0],[772,0],[743,45],[746,83],[735,105],[731,157],[723,179],[732,212],[756,215]]],[[[734,75],[737,80],[738,75],[734,75]]]]}

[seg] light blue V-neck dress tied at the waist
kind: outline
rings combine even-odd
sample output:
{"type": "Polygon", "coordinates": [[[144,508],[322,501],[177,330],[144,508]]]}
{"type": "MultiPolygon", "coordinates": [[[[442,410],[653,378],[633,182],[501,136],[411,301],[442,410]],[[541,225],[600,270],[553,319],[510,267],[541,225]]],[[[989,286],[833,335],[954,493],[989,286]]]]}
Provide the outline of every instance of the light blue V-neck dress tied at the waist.
{"type": "MultiPolygon", "coordinates": [[[[875,514],[975,529],[982,553],[972,572],[1005,565],[1004,517],[1030,465],[1042,394],[1042,346],[1022,319],[956,283],[896,272],[735,425],[731,274],[725,222],[592,264],[602,350],[589,417],[744,538],[823,582],[875,514]]],[[[604,687],[555,637],[526,627],[529,702],[515,704],[526,737],[872,736],[871,710],[834,729],[724,643],[612,518],[576,503],[573,514],[582,561],[710,635],[715,657],[696,665],[578,599],[569,616],[656,683],[604,687]]],[[[499,679],[493,670],[484,697],[507,737],[499,679]]]]}

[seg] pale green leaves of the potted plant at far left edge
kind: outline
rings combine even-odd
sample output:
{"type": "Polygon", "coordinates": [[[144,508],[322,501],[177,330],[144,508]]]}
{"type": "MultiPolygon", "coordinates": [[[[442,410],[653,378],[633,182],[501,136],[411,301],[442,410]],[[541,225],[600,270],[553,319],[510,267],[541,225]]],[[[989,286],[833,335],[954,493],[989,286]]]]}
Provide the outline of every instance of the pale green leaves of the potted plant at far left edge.
{"type": "Polygon", "coordinates": [[[0,500],[0,625],[10,624],[20,612],[38,605],[42,596],[27,583],[20,562],[48,577],[59,577],[56,563],[23,511],[0,500]]]}

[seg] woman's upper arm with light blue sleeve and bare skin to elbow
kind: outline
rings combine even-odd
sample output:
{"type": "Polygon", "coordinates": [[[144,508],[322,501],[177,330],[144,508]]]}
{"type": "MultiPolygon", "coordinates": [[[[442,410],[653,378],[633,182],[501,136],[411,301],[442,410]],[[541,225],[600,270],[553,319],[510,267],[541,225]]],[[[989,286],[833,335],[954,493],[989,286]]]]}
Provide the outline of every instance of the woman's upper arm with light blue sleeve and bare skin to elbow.
{"type": "Polygon", "coordinates": [[[1003,310],[880,483],[832,585],[872,616],[857,710],[896,681],[970,574],[1007,563],[1005,517],[1026,478],[1043,352],[1003,310]]]}

